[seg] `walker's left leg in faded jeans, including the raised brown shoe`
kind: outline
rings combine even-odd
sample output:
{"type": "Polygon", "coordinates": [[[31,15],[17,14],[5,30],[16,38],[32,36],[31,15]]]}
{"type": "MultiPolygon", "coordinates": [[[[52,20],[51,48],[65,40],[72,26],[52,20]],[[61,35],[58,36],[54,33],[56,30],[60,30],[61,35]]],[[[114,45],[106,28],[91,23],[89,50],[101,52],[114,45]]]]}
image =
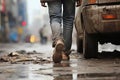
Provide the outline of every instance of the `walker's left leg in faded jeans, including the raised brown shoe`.
{"type": "Polygon", "coordinates": [[[62,28],[61,28],[61,12],[62,4],[61,1],[48,2],[50,24],[52,29],[53,47],[53,61],[60,63],[62,60],[62,51],[64,49],[64,42],[62,40],[62,28]]]}

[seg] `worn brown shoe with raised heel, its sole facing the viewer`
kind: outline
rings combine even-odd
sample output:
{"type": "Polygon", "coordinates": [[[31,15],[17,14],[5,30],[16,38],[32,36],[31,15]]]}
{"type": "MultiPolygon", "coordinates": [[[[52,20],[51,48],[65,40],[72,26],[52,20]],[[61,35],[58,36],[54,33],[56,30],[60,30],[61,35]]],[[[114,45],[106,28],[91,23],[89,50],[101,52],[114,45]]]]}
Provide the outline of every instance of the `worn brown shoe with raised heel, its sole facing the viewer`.
{"type": "Polygon", "coordinates": [[[60,63],[62,61],[62,52],[64,50],[64,43],[62,40],[57,40],[55,49],[53,52],[53,62],[60,63]]]}

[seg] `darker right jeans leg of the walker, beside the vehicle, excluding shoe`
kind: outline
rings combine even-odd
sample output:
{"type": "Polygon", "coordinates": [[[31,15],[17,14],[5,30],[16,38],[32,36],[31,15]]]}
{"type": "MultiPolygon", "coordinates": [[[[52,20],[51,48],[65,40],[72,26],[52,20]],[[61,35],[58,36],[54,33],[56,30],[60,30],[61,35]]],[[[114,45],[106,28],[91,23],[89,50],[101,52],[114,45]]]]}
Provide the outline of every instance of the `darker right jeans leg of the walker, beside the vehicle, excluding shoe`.
{"type": "Polygon", "coordinates": [[[73,21],[75,17],[75,0],[63,1],[63,38],[65,51],[69,52],[72,45],[73,21]]]}

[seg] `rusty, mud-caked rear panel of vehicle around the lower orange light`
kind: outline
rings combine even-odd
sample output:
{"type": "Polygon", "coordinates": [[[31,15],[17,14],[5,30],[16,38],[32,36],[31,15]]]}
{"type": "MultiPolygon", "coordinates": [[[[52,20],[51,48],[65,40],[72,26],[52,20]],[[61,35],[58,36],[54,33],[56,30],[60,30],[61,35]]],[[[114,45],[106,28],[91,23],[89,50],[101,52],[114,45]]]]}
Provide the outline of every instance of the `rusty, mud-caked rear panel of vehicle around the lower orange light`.
{"type": "Polygon", "coordinates": [[[83,22],[88,33],[120,32],[120,5],[86,6],[83,9],[83,22]],[[102,14],[115,14],[114,20],[104,20],[102,14]]]}

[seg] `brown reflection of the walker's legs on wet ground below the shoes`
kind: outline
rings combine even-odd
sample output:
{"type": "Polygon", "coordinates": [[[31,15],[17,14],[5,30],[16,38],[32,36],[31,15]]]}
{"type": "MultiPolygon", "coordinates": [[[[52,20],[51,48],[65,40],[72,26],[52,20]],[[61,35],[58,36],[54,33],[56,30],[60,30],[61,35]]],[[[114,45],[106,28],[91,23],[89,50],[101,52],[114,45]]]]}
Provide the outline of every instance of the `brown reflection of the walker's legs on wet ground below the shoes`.
{"type": "Polygon", "coordinates": [[[53,80],[77,80],[77,70],[72,65],[70,62],[54,64],[53,73],[58,75],[53,80]]]}

